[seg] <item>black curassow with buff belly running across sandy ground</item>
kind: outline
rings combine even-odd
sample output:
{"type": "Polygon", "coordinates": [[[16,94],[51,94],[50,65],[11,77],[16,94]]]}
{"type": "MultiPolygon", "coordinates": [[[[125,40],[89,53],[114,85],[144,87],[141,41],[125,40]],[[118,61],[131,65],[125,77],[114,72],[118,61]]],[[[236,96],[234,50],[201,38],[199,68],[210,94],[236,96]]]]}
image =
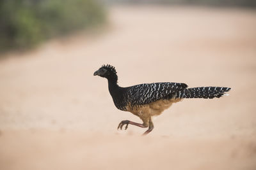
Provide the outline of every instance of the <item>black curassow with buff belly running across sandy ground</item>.
{"type": "Polygon", "coordinates": [[[184,98],[204,98],[228,96],[229,87],[194,87],[188,88],[186,83],[143,83],[131,87],[120,87],[117,84],[118,76],[114,66],[102,65],[93,76],[100,76],[108,80],[108,90],[118,110],[129,111],[142,120],[142,124],[131,120],[122,120],[117,129],[125,125],[136,125],[148,128],[143,135],[154,129],[152,117],[160,115],[164,110],[170,108],[173,103],[182,101],[184,98]]]}

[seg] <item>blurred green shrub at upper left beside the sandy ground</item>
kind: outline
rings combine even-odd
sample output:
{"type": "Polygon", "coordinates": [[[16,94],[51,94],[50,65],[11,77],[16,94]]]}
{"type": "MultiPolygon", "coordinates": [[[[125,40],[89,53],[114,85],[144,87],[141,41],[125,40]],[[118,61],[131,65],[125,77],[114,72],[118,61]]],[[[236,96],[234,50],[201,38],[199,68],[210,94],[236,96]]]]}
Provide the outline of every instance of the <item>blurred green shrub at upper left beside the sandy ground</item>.
{"type": "Polygon", "coordinates": [[[95,0],[0,0],[0,51],[35,46],[104,21],[95,0]]]}

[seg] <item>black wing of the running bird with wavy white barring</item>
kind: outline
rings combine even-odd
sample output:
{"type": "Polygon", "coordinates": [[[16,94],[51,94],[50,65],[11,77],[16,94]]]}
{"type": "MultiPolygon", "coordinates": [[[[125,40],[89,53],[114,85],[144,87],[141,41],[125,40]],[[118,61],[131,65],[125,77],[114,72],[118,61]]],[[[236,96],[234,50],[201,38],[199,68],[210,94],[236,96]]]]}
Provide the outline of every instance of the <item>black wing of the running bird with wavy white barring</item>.
{"type": "Polygon", "coordinates": [[[127,98],[132,105],[148,104],[159,99],[171,97],[175,92],[186,89],[184,83],[149,83],[134,85],[127,89],[127,98]]]}

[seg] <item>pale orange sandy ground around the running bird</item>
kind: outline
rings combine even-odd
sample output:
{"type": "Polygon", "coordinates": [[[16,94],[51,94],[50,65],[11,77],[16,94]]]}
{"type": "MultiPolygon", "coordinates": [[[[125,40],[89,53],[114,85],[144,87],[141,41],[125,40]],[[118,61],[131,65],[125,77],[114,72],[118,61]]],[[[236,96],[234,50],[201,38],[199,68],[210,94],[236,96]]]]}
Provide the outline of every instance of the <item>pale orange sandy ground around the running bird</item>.
{"type": "MultiPolygon", "coordinates": [[[[116,6],[99,35],[57,39],[0,60],[0,169],[256,169],[256,11],[116,6]],[[232,87],[186,99],[154,131],[115,108],[107,81],[232,87]]],[[[3,57],[2,57],[3,58],[3,57]]]]}

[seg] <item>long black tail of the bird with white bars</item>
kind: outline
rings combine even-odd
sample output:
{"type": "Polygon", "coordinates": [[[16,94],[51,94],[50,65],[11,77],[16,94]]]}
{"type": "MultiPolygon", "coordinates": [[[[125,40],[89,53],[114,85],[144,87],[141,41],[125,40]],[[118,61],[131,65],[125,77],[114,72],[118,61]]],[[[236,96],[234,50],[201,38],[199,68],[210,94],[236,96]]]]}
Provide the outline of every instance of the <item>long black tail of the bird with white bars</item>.
{"type": "Polygon", "coordinates": [[[177,92],[176,98],[220,98],[221,96],[228,96],[225,92],[228,92],[230,89],[229,87],[194,87],[180,90],[177,92]]]}

